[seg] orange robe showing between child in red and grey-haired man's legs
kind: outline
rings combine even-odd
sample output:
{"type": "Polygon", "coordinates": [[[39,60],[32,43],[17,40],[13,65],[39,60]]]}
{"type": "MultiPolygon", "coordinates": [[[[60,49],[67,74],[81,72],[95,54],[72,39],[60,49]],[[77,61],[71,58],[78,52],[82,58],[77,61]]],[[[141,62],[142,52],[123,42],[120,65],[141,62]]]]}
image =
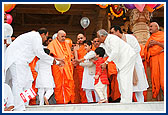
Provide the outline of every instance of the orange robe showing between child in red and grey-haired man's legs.
{"type": "Polygon", "coordinates": [[[113,61],[108,63],[108,76],[111,77],[111,93],[110,97],[112,101],[115,101],[120,97],[120,91],[119,91],[119,86],[118,86],[118,80],[117,80],[117,69],[116,65],[113,61]]]}

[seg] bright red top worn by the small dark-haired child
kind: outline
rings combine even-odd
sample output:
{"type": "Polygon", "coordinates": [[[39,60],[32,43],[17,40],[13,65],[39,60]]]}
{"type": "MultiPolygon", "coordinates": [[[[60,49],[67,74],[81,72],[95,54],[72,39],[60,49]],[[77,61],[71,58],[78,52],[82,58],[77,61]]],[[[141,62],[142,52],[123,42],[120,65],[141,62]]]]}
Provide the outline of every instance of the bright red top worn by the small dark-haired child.
{"type": "MultiPolygon", "coordinates": [[[[107,70],[104,69],[102,71],[101,64],[104,63],[104,59],[102,57],[99,57],[96,61],[94,61],[94,64],[96,64],[96,74],[99,75],[99,78],[102,82],[102,84],[109,84],[108,78],[107,78],[107,70]]],[[[95,85],[99,82],[99,79],[95,79],[95,85]]]]}

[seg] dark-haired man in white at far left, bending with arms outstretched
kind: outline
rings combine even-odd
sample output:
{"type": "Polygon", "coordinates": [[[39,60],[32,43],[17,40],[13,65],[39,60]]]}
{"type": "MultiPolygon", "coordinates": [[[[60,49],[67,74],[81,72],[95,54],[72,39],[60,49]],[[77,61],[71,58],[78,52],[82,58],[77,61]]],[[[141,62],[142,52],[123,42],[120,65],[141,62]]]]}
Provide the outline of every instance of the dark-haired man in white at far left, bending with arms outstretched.
{"type": "Polygon", "coordinates": [[[64,65],[63,60],[57,61],[44,52],[42,43],[46,41],[47,37],[47,29],[40,28],[37,32],[31,31],[18,36],[6,50],[4,59],[5,79],[8,77],[7,71],[10,71],[16,111],[25,110],[25,105],[20,97],[20,93],[32,87],[33,76],[29,63],[35,56],[50,65],[64,65]]]}

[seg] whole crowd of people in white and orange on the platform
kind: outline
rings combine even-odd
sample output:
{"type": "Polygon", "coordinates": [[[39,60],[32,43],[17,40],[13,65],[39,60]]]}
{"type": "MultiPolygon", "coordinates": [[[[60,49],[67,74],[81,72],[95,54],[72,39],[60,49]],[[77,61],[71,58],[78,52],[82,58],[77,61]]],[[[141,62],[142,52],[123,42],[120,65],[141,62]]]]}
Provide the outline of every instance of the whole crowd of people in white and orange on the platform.
{"type": "Polygon", "coordinates": [[[53,37],[46,28],[19,35],[5,44],[4,111],[37,104],[143,103],[148,65],[152,94],[159,100],[160,89],[164,95],[164,32],[156,22],[149,31],[145,46],[119,26],[100,29],[91,40],[79,33],[73,44],[66,42],[64,30],[53,37]],[[30,88],[38,95],[24,103],[20,93],[30,88]]]}

